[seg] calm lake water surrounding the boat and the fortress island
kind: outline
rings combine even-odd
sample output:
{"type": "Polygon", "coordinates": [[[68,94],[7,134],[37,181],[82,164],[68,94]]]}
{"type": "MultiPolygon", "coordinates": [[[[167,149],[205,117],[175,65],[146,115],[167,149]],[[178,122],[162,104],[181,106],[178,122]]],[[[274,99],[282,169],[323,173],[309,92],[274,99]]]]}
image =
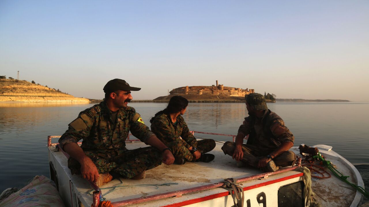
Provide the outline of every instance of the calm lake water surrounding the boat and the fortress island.
{"type": "MultiPolygon", "coordinates": [[[[0,102],[0,193],[8,187],[23,186],[35,175],[49,176],[47,136],[63,134],[68,123],[92,105],[0,102]]],[[[148,126],[150,117],[166,107],[166,103],[129,105],[148,126]]],[[[368,190],[369,102],[278,102],[268,103],[268,107],[282,117],[295,136],[296,146],[331,145],[358,168],[368,190]]],[[[245,116],[244,103],[190,103],[184,119],[190,130],[237,134],[245,116]]]]}

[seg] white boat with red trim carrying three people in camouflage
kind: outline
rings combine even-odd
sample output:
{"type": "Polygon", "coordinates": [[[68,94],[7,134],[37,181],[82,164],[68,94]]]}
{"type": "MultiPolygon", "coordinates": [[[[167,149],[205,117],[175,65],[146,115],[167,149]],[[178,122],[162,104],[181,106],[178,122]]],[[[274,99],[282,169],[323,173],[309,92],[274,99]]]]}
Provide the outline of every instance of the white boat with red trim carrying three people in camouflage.
{"type": "MultiPolygon", "coordinates": [[[[214,134],[232,137],[235,135],[193,131],[196,134],[214,134]]],[[[201,206],[201,207],[306,207],[313,202],[321,206],[357,207],[362,204],[363,194],[336,176],[326,179],[310,177],[301,167],[289,166],[276,172],[262,172],[250,167],[237,167],[231,156],[224,155],[223,142],[216,141],[211,154],[214,161],[187,162],[185,165],[162,164],[146,171],[142,180],[115,179],[98,188],[80,175],[71,175],[68,169],[68,154],[58,149],[48,136],[48,157],[50,178],[54,180],[66,206],[99,206],[110,201],[111,206],[201,206]],[[311,180],[311,185],[310,185],[311,180]],[[307,187],[313,189],[314,200],[306,196],[307,187]]],[[[57,139],[55,139],[57,140],[57,139]]],[[[81,144],[81,143],[79,143],[81,144]]],[[[126,147],[135,149],[146,147],[132,136],[127,138],[126,147]]],[[[358,170],[344,157],[332,150],[331,146],[315,145],[320,154],[335,165],[335,169],[356,186],[364,188],[358,170]]],[[[301,158],[298,147],[291,148],[301,158]]],[[[301,160],[301,159],[300,159],[301,160]]],[[[299,161],[299,160],[298,160],[299,161]]],[[[298,163],[299,165],[299,163],[298,163]]],[[[322,177],[318,175],[317,177],[322,177]]]]}

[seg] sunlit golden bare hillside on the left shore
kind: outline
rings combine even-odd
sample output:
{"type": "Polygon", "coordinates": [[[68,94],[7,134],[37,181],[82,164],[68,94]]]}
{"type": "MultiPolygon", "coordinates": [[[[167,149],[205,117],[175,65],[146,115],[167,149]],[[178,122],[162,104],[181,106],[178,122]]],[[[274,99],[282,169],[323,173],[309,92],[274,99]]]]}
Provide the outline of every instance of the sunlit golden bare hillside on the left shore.
{"type": "Polygon", "coordinates": [[[0,79],[0,101],[89,102],[89,99],[76,98],[55,90],[55,88],[49,88],[25,80],[0,79]]]}

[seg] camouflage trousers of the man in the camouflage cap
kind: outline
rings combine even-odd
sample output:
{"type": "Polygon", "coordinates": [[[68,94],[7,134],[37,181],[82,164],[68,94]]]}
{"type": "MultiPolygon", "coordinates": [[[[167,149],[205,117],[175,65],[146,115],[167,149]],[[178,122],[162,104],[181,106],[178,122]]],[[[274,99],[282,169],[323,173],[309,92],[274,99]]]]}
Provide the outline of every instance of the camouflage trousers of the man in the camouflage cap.
{"type": "MultiPolygon", "coordinates": [[[[224,154],[233,155],[233,152],[236,148],[236,143],[232,141],[227,141],[224,143],[222,150],[224,154]]],[[[252,144],[242,144],[242,151],[244,152],[244,157],[242,161],[245,163],[257,167],[257,163],[255,163],[256,159],[260,157],[265,157],[272,153],[275,149],[263,148],[252,144]],[[256,166],[255,166],[256,165],[256,166]]],[[[293,151],[285,151],[277,157],[273,158],[273,161],[277,166],[291,166],[296,161],[296,154],[293,151]]]]}

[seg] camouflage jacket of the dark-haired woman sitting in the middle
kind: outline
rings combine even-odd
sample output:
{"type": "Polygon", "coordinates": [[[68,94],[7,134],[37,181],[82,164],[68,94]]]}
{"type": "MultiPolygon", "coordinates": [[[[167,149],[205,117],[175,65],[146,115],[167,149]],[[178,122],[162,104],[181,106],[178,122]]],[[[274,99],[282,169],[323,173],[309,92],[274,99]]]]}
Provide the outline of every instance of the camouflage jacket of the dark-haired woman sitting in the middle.
{"type": "Polygon", "coordinates": [[[169,115],[163,113],[155,117],[151,124],[151,131],[164,143],[170,143],[171,141],[182,137],[186,143],[186,148],[197,147],[196,138],[192,135],[187,127],[186,122],[181,115],[177,116],[177,124],[173,124],[169,115]]]}

